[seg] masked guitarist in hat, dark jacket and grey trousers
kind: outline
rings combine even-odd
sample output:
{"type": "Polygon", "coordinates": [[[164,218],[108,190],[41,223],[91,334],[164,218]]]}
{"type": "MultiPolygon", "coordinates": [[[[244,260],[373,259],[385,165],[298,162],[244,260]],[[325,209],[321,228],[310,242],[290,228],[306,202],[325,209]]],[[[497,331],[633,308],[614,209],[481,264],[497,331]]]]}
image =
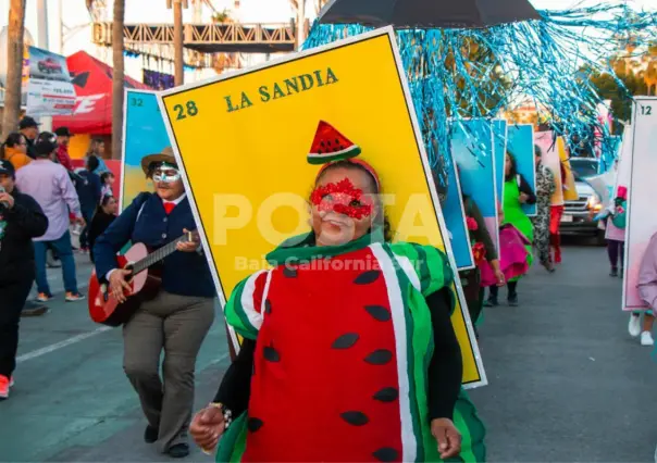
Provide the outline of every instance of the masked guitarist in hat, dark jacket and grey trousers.
{"type": "MultiPolygon", "coordinates": [[[[188,230],[194,215],[171,148],[141,161],[154,193],[142,192],[94,247],[96,274],[119,302],[131,296],[131,271],[116,253],[128,242],[158,250],[188,230]]],[[[148,421],[146,442],[173,458],[189,453],[187,428],[194,401],[198,351],[214,320],[214,285],[198,239],[178,241],[160,264],[161,287],[123,326],[123,368],[148,421]],[[164,351],[162,376],[160,355],[164,351]]],[[[138,296],[135,296],[138,297],[138,296]]]]}

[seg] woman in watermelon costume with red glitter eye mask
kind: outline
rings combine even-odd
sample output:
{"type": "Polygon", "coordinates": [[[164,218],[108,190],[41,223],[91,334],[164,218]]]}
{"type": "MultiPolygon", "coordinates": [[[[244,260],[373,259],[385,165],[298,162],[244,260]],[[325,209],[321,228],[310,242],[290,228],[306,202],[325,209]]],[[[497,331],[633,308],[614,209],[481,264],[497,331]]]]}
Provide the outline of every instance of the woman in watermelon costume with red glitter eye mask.
{"type": "Polygon", "coordinates": [[[309,161],[330,163],[312,230],[234,289],[225,314],[245,341],[191,435],[209,451],[223,434],[218,462],[484,461],[446,256],[388,242],[358,147],[326,123],[313,147],[309,161]]]}

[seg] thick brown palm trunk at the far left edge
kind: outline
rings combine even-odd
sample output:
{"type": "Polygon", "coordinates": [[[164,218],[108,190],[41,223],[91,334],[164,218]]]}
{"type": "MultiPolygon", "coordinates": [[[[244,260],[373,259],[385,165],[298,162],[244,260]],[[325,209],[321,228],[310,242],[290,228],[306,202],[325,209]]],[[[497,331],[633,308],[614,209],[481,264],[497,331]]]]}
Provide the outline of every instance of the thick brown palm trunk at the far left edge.
{"type": "Polygon", "coordinates": [[[9,37],[7,40],[7,83],[2,140],[17,130],[21,114],[21,89],[23,74],[23,36],[25,34],[25,2],[11,0],[9,7],[9,37]]]}

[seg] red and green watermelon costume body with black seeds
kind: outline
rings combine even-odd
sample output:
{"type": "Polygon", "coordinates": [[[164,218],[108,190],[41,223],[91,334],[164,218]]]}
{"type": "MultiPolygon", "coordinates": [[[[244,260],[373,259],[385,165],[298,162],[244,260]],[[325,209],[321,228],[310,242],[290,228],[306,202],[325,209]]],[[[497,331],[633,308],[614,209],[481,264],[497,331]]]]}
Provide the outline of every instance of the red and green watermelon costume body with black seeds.
{"type": "MultiPolygon", "coordinates": [[[[218,462],[441,461],[427,417],[424,297],[449,285],[451,270],[435,248],[363,238],[278,248],[268,259],[287,265],[233,291],[226,318],[258,343],[248,412],[222,437],[218,462]]],[[[454,422],[463,436],[455,461],[485,461],[484,427],[464,392],[454,422]]]]}

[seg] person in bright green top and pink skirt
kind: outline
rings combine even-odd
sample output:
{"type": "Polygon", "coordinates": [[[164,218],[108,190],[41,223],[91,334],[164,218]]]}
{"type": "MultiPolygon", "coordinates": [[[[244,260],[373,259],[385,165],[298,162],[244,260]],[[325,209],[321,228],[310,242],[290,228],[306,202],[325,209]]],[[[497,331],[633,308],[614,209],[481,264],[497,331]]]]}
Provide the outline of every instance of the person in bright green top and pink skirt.
{"type": "MultiPolygon", "coordinates": [[[[504,201],[501,208],[503,218],[500,221],[500,259],[503,261],[509,260],[509,254],[517,254],[518,234],[516,230],[519,232],[521,235],[519,238],[523,239],[526,250],[524,258],[526,260],[526,266],[522,266],[522,273],[526,273],[526,268],[532,264],[532,242],[534,240],[533,225],[530,217],[528,217],[522,210],[522,204],[534,204],[535,202],[536,195],[532,191],[526,179],[518,173],[513,155],[507,152],[505,158],[504,201]],[[505,239],[506,237],[509,238],[505,239]],[[505,254],[507,254],[506,259],[505,254]]],[[[518,254],[520,255],[522,252],[518,254]]],[[[512,261],[513,259],[510,260],[512,261]]],[[[518,275],[518,272],[516,272],[516,275],[507,280],[507,301],[509,305],[518,305],[518,280],[521,277],[522,274],[518,275]]],[[[498,293],[498,287],[491,286],[491,296],[486,303],[487,306],[499,304],[498,293]]]]}

